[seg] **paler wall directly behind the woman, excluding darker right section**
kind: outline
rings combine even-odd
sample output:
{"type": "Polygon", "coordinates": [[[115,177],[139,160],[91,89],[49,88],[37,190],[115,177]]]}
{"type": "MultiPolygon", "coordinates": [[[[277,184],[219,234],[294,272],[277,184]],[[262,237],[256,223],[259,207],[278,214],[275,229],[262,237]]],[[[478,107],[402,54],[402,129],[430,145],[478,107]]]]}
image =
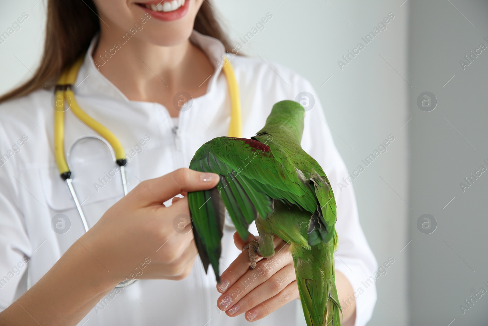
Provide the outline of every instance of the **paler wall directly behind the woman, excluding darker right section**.
{"type": "MultiPolygon", "coordinates": [[[[23,12],[29,18],[0,44],[0,93],[31,76],[39,60],[44,4],[3,1],[0,31],[23,12]],[[15,56],[17,56],[17,58],[15,56]],[[25,66],[24,66],[25,65],[25,66]]],[[[407,315],[407,114],[408,1],[216,0],[224,28],[238,42],[267,12],[273,18],[242,51],[286,65],[305,76],[319,93],[334,140],[350,172],[393,135],[387,152],[354,180],[361,224],[381,264],[395,262],[377,281],[378,300],[369,325],[408,324],[407,315]],[[397,1],[395,1],[397,2],[397,1]],[[395,18],[341,70],[338,60],[388,13],[395,18]],[[332,77],[330,77],[332,76],[332,77]],[[330,77],[330,79],[328,79],[330,77]],[[324,82],[328,81],[324,84],[324,82]],[[407,202],[404,202],[404,200],[407,202]]],[[[305,324],[303,324],[305,325],[305,324]]]]}

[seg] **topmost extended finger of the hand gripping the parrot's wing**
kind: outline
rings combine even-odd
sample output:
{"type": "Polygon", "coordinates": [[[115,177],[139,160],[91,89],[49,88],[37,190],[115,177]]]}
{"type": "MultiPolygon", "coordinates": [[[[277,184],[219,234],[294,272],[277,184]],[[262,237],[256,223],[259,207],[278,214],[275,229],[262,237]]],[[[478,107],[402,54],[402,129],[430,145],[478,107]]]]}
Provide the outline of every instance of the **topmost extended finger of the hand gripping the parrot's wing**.
{"type": "Polygon", "coordinates": [[[142,181],[131,192],[131,197],[146,206],[157,203],[162,204],[164,201],[181,194],[183,191],[194,192],[211,189],[218,182],[218,174],[203,173],[182,168],[160,176],[159,178],[142,181]]]}

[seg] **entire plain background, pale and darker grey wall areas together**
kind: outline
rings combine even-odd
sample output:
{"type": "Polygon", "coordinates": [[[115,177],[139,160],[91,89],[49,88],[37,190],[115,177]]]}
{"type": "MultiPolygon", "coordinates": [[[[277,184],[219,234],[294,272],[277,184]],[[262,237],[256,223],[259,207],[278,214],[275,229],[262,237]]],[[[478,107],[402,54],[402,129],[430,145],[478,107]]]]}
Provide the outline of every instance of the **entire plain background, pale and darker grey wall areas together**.
{"type": "MultiPolygon", "coordinates": [[[[2,2],[0,32],[22,12],[29,18],[0,44],[0,93],[30,77],[39,61],[45,9],[37,1],[2,2]]],[[[353,182],[378,262],[395,259],[376,283],[368,325],[486,325],[485,296],[464,315],[460,305],[480,287],[488,290],[488,174],[464,193],[459,183],[480,165],[488,168],[488,49],[465,70],[459,61],[480,43],[488,46],[488,4],[404,1],[215,0],[215,10],[243,53],[312,83],[349,171],[395,137],[353,182]],[[244,45],[239,37],[267,12],[273,18],[244,45]],[[338,60],[390,12],[387,29],[341,70],[338,60]],[[431,112],[417,107],[424,91],[438,100],[431,112]],[[417,229],[423,214],[437,220],[434,233],[417,229]]]]}

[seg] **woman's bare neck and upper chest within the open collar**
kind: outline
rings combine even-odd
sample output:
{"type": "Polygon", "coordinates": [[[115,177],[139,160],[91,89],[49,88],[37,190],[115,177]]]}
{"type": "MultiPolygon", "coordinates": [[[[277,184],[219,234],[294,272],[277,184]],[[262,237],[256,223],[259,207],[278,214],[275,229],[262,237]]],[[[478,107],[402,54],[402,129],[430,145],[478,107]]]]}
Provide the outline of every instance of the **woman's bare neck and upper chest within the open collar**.
{"type": "Polygon", "coordinates": [[[137,35],[122,40],[121,35],[125,32],[115,24],[111,24],[110,31],[102,26],[93,60],[102,75],[129,100],[158,102],[171,116],[178,116],[179,110],[173,105],[176,93],[185,91],[193,98],[206,93],[214,68],[189,39],[161,46],[137,35]],[[114,44],[119,44],[118,49],[114,44]]]}

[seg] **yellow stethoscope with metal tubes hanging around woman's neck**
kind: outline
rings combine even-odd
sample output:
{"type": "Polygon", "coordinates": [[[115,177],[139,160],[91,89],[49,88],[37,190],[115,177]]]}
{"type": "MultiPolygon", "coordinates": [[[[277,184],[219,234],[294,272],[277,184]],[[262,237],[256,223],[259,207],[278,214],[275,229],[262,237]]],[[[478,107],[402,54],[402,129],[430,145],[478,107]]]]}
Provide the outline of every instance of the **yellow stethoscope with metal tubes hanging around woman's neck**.
{"type": "MultiPolygon", "coordinates": [[[[77,207],[78,213],[80,214],[81,221],[85,232],[88,232],[88,223],[86,222],[85,215],[81,208],[80,200],[76,194],[73,187],[72,174],[68,166],[68,161],[64,155],[64,112],[68,109],[77,116],[81,122],[83,122],[88,127],[97,131],[99,136],[82,136],[75,140],[73,144],[68,149],[67,156],[70,156],[70,152],[74,145],[85,138],[95,138],[103,143],[109,148],[114,162],[120,167],[121,177],[122,177],[122,187],[124,196],[127,195],[127,178],[125,175],[125,165],[127,160],[125,158],[125,151],[122,147],[119,139],[107,128],[105,128],[101,123],[86,114],[78,105],[75,99],[75,94],[73,92],[73,85],[76,81],[78,75],[78,70],[80,70],[81,64],[83,63],[84,56],[78,59],[75,64],[66,69],[61,73],[61,77],[55,87],[55,112],[54,112],[54,155],[56,157],[56,163],[58,165],[58,170],[61,174],[61,178],[66,181],[69,191],[75,205],[77,207]],[[68,109],[65,109],[65,106],[68,109]]],[[[242,117],[241,117],[241,101],[239,96],[239,86],[234,75],[234,69],[230,64],[229,60],[224,57],[224,65],[222,66],[225,78],[227,79],[227,85],[230,95],[230,126],[228,131],[229,137],[242,137],[242,117]]],[[[127,286],[136,280],[123,281],[117,285],[117,287],[127,286]]]]}

